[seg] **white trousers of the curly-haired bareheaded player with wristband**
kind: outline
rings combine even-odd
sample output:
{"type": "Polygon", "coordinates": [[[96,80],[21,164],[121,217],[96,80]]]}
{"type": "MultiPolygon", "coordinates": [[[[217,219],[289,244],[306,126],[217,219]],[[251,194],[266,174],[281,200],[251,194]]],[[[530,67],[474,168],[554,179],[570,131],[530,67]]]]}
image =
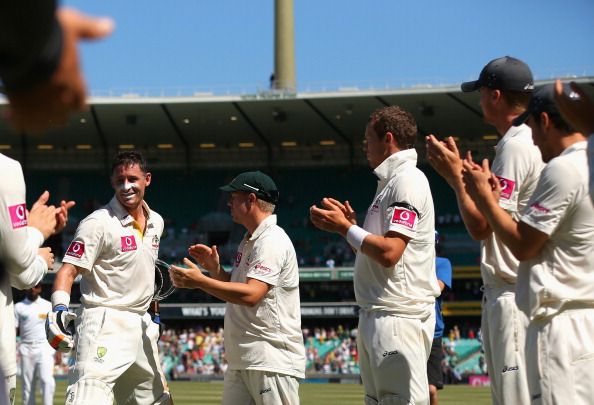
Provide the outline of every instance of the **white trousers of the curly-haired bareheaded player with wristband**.
{"type": "Polygon", "coordinates": [[[426,319],[359,311],[357,349],[366,404],[429,404],[427,360],[435,313],[426,319]]]}

